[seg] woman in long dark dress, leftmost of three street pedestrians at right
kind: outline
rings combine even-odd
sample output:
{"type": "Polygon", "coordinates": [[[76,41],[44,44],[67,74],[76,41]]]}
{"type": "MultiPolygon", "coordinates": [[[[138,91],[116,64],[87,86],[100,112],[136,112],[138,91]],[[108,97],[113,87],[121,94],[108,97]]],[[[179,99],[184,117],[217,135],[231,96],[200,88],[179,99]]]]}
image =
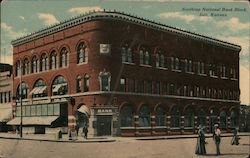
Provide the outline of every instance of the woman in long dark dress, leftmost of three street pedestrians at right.
{"type": "Polygon", "coordinates": [[[205,137],[205,133],[204,133],[204,128],[199,125],[198,127],[198,138],[197,138],[197,144],[196,144],[196,151],[195,154],[197,155],[204,155],[206,154],[206,137],[205,137]]]}

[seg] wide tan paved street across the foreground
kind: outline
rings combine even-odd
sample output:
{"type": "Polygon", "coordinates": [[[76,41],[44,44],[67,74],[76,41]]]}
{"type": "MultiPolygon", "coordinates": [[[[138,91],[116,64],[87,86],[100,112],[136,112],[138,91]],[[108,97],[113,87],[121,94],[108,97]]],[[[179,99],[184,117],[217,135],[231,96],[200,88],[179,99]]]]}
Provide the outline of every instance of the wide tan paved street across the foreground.
{"type": "Polygon", "coordinates": [[[207,155],[194,154],[196,139],[132,140],[119,138],[106,143],[62,143],[0,139],[0,158],[246,158],[250,153],[249,136],[241,136],[239,146],[231,146],[231,137],[223,137],[221,156],[207,139],[207,155]]]}

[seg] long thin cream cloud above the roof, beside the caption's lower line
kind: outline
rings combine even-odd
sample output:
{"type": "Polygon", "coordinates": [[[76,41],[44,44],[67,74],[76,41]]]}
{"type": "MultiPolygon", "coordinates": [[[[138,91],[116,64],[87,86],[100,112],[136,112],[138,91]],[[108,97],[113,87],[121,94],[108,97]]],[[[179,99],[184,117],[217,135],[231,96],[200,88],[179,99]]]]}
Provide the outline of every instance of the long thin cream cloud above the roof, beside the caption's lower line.
{"type": "Polygon", "coordinates": [[[183,14],[181,12],[171,12],[171,13],[160,13],[157,15],[158,17],[161,18],[171,18],[171,19],[180,19],[184,20],[186,23],[190,23],[192,21],[202,21],[202,22],[207,22],[209,20],[212,20],[211,17],[207,16],[197,16],[197,15],[188,15],[188,14],[183,14]]]}

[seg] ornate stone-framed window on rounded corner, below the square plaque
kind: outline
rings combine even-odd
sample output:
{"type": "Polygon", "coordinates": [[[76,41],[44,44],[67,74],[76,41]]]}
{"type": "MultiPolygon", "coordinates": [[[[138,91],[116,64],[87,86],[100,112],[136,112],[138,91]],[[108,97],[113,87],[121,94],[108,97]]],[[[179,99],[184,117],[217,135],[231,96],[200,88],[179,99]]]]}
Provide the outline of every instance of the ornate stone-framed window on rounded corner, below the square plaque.
{"type": "Polygon", "coordinates": [[[109,72],[100,72],[99,79],[101,91],[110,91],[111,74],[109,72]]]}

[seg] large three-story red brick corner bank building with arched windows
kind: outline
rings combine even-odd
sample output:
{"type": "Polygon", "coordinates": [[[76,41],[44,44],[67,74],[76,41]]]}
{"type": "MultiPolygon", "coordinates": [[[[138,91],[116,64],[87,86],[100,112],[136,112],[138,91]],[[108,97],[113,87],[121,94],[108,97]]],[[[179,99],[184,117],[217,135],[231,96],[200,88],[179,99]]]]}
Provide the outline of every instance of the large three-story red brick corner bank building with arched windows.
{"type": "MultiPolygon", "coordinates": [[[[191,134],[238,126],[241,47],[116,11],[12,41],[14,94],[31,132],[191,134]],[[81,132],[81,131],[80,131],[81,132]]],[[[12,125],[20,123],[16,100],[12,125]]]]}

